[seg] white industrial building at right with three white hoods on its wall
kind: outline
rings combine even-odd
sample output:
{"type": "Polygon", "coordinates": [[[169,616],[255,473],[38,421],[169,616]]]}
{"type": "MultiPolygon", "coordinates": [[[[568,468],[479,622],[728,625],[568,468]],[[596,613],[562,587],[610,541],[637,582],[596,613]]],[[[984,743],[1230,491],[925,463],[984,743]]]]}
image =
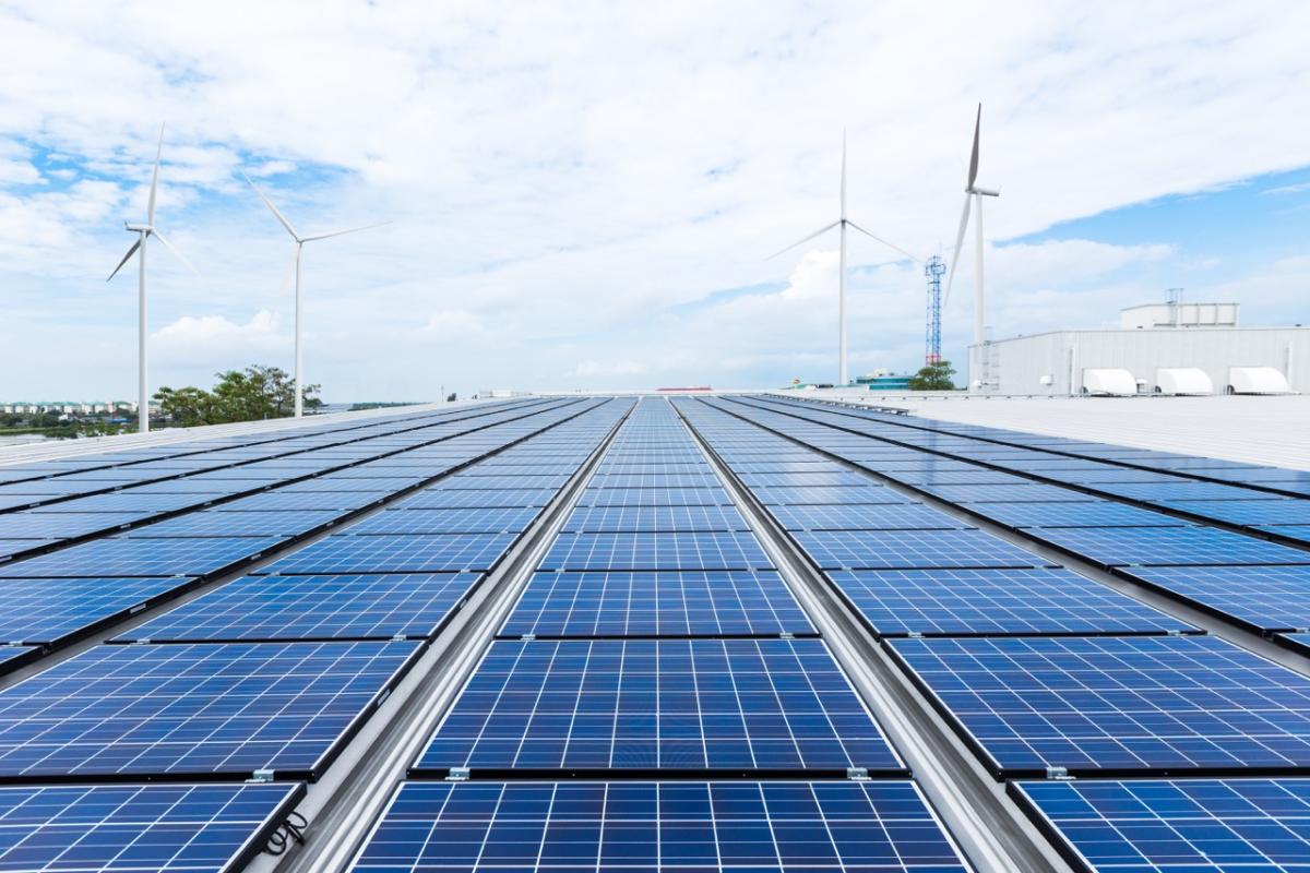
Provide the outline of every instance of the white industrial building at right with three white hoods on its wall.
{"type": "Polygon", "coordinates": [[[1117,329],[969,347],[969,391],[1007,395],[1310,390],[1310,327],[1241,327],[1237,304],[1150,304],[1117,329]]]}

